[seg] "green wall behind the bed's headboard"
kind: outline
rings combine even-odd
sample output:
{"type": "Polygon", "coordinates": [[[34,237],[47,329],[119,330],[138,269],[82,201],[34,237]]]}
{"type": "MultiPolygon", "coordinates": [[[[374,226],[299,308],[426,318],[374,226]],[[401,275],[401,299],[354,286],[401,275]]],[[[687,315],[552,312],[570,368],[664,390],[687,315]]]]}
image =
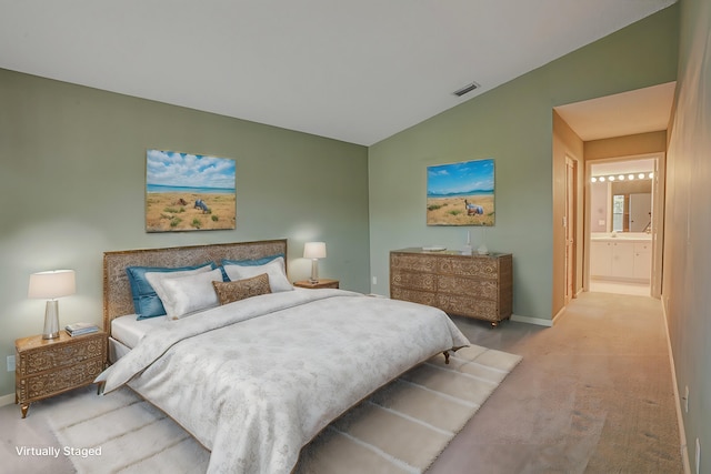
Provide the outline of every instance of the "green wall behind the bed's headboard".
{"type": "Polygon", "coordinates": [[[42,331],[30,273],[77,271],[60,324],[101,322],[102,252],[289,239],[289,273],[310,273],[303,242],[323,240],[320,275],[367,292],[364,147],[0,70],[0,395],[6,357],[42,331]],[[237,161],[237,229],[146,233],[146,150],[237,161]]]}

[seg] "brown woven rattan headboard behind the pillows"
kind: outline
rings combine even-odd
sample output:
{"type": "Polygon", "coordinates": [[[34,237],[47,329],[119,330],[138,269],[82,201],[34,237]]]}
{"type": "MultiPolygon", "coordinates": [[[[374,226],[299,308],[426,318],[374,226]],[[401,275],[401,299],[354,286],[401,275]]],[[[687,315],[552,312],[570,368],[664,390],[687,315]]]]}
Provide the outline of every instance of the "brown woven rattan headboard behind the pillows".
{"type": "Polygon", "coordinates": [[[286,239],[103,252],[103,330],[111,334],[111,320],[134,312],[127,266],[220,264],[223,259],[259,259],[277,253],[287,254],[286,239]]]}

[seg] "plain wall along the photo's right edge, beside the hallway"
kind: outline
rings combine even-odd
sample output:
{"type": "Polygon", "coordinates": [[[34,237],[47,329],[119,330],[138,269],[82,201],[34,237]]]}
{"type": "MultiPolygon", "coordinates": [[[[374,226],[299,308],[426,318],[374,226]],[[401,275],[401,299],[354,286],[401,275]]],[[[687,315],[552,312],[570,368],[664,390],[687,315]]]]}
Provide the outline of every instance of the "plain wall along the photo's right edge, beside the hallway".
{"type": "Polygon", "coordinates": [[[681,1],[677,112],[667,157],[662,302],[690,472],[711,472],[711,1],[681,1]],[[701,463],[697,465],[697,440],[701,463]]]}

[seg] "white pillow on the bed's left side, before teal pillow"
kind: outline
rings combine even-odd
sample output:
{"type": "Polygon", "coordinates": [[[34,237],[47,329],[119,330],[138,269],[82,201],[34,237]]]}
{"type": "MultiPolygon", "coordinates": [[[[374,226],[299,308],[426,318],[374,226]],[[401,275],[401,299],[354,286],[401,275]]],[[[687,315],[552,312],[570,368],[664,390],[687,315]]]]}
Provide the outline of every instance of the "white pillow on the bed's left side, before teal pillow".
{"type": "Polygon", "coordinates": [[[179,320],[180,317],[219,306],[218,295],[214,292],[212,282],[222,281],[222,271],[212,270],[207,273],[180,276],[177,279],[162,279],[163,295],[158,293],[166,307],[166,317],[179,320]]]}

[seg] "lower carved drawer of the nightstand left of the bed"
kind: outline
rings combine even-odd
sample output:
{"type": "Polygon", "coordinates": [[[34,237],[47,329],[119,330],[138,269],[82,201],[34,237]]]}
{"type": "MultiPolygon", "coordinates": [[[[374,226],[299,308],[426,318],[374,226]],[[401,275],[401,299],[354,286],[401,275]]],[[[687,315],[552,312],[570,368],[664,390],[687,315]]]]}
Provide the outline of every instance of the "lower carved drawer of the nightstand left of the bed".
{"type": "Polygon", "coordinates": [[[78,365],[46,372],[21,379],[18,382],[18,399],[33,402],[48,395],[54,395],[77,386],[88,385],[103,370],[103,359],[96,357],[78,365]]]}

